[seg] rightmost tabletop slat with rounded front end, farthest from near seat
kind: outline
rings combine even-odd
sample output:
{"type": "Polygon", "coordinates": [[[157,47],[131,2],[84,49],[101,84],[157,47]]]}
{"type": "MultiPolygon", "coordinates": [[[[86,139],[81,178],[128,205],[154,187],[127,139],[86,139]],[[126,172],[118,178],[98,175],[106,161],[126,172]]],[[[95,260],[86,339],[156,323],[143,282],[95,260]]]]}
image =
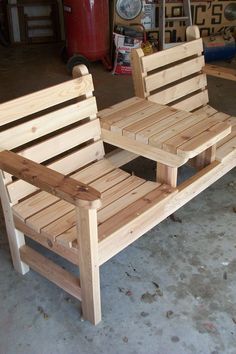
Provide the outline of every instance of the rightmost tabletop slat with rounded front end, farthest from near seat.
{"type": "Polygon", "coordinates": [[[194,157],[213,144],[216,144],[217,141],[223,139],[226,135],[230,134],[230,132],[231,126],[227,126],[225,122],[215,124],[213,127],[207,129],[207,131],[202,132],[195,138],[179,146],[177,153],[184,157],[194,157]]]}

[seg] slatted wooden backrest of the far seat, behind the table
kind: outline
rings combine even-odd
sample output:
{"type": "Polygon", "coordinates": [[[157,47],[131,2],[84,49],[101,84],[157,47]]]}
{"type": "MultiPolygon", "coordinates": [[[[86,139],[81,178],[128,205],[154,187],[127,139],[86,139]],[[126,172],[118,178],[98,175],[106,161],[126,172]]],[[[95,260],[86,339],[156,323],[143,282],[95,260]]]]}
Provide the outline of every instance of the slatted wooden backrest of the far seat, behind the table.
{"type": "Polygon", "coordinates": [[[202,39],[144,56],[131,54],[135,95],[150,101],[193,111],[208,103],[202,39]]]}

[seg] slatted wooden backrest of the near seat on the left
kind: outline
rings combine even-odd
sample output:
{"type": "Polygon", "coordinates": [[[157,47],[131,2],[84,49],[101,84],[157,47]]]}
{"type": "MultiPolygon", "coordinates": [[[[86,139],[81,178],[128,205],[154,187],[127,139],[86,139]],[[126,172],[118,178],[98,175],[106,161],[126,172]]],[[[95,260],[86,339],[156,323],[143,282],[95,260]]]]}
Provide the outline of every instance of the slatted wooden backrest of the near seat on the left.
{"type": "MultiPolygon", "coordinates": [[[[70,175],[101,159],[101,140],[92,76],[55,85],[0,105],[0,148],[16,151],[70,175]]],[[[11,202],[17,203],[36,187],[4,173],[11,202]]]]}

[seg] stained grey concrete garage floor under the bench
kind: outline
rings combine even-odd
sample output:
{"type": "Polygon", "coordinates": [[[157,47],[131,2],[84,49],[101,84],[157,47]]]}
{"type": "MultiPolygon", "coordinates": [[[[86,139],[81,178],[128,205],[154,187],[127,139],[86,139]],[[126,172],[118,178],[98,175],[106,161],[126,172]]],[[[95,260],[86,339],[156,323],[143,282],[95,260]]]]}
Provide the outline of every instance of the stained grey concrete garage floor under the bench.
{"type": "MultiPolygon", "coordinates": [[[[0,47],[0,102],[68,80],[59,49],[0,47]]],[[[91,72],[99,109],[133,95],[130,77],[91,72]]],[[[208,82],[211,105],[236,115],[236,83],[208,82]]],[[[97,327],[61,289],[13,270],[1,218],[0,354],[235,354],[235,209],[236,170],[103,265],[97,327]]]]}

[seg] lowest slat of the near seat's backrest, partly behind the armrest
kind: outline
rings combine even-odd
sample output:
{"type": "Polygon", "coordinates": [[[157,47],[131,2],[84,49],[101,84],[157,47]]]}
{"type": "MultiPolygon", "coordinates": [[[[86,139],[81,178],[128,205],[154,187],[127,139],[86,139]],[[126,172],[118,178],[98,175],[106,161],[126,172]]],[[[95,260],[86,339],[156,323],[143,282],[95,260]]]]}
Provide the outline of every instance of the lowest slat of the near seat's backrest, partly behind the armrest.
{"type": "MultiPolygon", "coordinates": [[[[103,156],[103,142],[99,140],[66,157],[59,159],[54,163],[49,164],[48,167],[57,172],[68,175],[83,167],[84,165],[87,165],[88,163],[102,159],[103,156]]],[[[10,200],[13,204],[17,203],[18,200],[26,197],[28,194],[38,190],[37,187],[24,182],[23,180],[18,180],[9,184],[7,189],[10,200]]]]}

